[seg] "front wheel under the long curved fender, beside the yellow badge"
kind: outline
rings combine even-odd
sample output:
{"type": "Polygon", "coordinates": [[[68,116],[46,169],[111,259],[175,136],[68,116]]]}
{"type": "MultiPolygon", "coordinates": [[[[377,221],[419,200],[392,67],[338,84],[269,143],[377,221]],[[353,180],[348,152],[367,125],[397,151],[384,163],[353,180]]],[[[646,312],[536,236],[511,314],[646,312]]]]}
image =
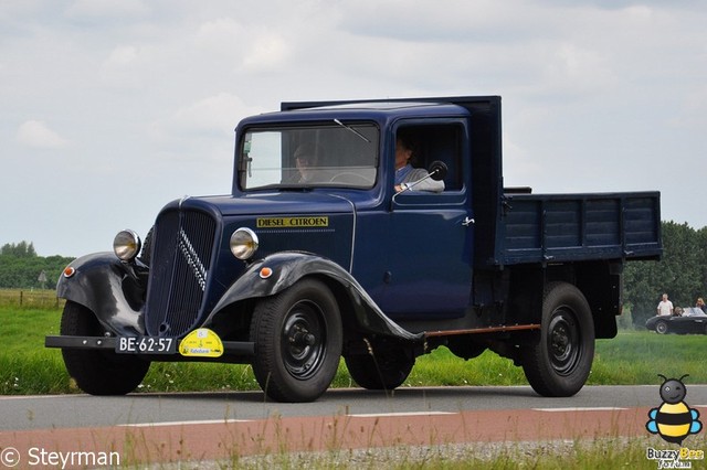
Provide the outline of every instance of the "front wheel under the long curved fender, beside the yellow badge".
{"type": "Polygon", "coordinates": [[[258,301],[251,323],[253,373],[277,402],[313,402],[324,394],[339,366],[341,318],[329,288],[303,279],[258,301]]]}

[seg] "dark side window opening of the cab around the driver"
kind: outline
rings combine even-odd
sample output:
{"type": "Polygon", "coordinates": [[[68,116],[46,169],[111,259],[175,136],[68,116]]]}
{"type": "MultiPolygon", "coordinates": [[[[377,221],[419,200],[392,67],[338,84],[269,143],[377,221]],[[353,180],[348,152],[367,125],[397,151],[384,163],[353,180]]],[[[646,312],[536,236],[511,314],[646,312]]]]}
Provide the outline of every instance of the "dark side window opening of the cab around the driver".
{"type": "Polygon", "coordinates": [[[426,170],[433,161],[440,160],[447,167],[444,191],[458,191],[463,186],[462,131],[458,124],[407,125],[398,129],[395,137],[399,145],[410,147],[409,163],[413,169],[426,170]]]}

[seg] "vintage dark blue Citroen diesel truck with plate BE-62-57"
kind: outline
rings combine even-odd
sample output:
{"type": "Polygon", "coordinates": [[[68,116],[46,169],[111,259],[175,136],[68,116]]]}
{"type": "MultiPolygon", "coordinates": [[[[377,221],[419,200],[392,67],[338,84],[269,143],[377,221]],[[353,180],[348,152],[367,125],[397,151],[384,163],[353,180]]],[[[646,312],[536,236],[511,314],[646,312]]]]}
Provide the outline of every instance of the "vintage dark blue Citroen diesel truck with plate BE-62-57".
{"type": "Polygon", "coordinates": [[[659,194],[506,189],[500,125],[497,96],[243,119],[231,194],[173,201],[144,246],[126,229],[74,260],[45,345],[94,395],[131,392],[152,361],[213,361],[307,402],[341,357],[358,385],[392,389],[446,346],[571,396],[594,340],[616,334],[624,263],[662,255],[659,194]]]}

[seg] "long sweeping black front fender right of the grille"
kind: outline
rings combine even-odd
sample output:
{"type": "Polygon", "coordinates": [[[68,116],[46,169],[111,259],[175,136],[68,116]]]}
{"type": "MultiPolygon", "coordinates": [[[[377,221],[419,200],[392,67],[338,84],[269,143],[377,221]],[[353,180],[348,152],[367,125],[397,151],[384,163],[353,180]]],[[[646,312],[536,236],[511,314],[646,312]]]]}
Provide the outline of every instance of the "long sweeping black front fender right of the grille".
{"type": "Polygon", "coordinates": [[[422,333],[411,333],[389,319],[347,270],[329,259],[302,252],[277,253],[253,263],[226,290],[204,324],[209,325],[219,312],[235,302],[275,295],[313,275],[325,276],[344,288],[355,320],[363,331],[407,341],[423,339],[422,333]]]}

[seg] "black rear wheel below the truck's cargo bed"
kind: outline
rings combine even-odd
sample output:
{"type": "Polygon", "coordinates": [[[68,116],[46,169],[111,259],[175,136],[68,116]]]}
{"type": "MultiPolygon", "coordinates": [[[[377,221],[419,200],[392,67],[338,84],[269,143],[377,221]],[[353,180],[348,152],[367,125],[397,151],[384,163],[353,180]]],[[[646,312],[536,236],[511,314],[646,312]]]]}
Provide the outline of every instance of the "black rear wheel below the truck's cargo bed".
{"type": "Polygon", "coordinates": [[[572,396],[584,386],[594,359],[594,322],[577,287],[547,286],[539,341],[524,345],[521,357],[526,378],[542,396],[572,396]]]}

